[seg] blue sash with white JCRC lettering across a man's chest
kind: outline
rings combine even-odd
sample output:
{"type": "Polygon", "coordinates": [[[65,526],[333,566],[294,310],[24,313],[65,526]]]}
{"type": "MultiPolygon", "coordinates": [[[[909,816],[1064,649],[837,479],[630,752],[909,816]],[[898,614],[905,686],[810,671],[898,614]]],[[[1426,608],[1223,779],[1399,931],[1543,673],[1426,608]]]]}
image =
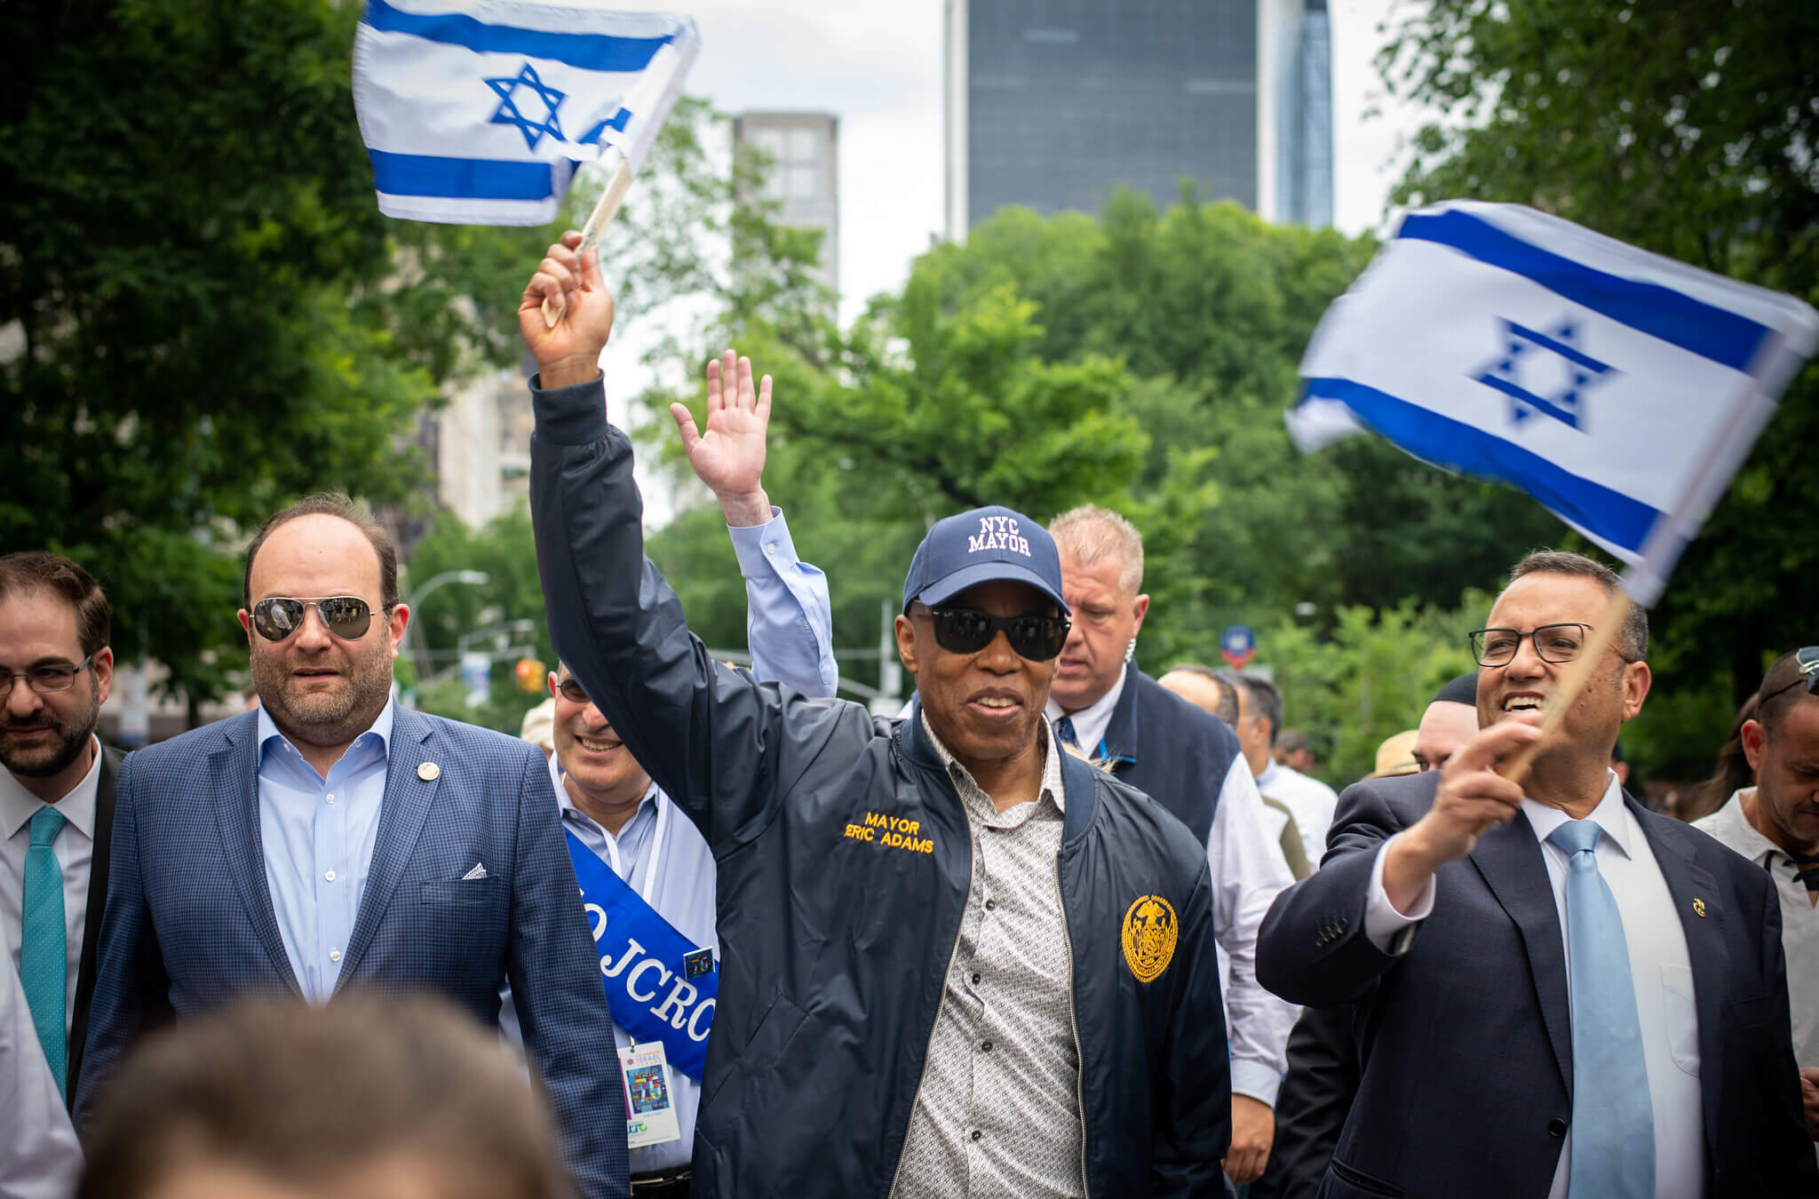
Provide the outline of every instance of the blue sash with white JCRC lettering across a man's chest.
{"type": "MultiPolygon", "coordinates": [[[[669,1064],[700,1083],[708,1032],[720,995],[720,973],[686,977],[684,957],[698,946],[564,830],[582,904],[600,953],[606,1006],[613,1023],[637,1041],[662,1041],[669,1064]]],[[[700,961],[698,957],[695,961],[700,961]]]]}

